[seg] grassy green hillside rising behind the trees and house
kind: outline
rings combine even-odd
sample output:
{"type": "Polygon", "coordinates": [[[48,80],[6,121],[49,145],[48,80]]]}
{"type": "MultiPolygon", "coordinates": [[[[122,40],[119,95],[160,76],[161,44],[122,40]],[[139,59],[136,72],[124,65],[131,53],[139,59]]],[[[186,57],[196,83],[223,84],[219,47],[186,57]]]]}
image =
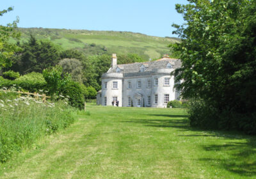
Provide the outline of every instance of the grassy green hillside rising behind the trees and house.
{"type": "Polygon", "coordinates": [[[88,31],[71,29],[19,28],[20,42],[26,42],[30,34],[37,39],[48,39],[63,49],[77,49],[86,55],[136,53],[145,59],[170,54],[168,45],[179,38],[148,36],[126,31],[88,31]]]}

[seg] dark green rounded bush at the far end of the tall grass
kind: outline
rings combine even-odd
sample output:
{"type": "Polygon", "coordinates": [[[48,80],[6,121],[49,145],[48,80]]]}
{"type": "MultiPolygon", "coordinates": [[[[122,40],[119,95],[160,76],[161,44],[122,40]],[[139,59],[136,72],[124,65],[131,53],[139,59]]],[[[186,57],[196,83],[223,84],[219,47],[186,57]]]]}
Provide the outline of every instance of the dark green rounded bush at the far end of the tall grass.
{"type": "Polygon", "coordinates": [[[82,109],[84,106],[84,96],[78,82],[70,81],[61,88],[61,94],[68,97],[68,102],[73,107],[82,109]]]}

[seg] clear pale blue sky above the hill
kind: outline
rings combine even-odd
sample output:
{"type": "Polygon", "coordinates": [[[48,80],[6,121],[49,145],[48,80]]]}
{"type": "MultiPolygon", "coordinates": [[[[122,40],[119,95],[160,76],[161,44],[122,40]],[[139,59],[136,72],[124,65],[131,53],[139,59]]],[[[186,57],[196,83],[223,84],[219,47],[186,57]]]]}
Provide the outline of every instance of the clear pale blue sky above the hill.
{"type": "MultiPolygon", "coordinates": [[[[19,27],[132,31],[152,36],[176,36],[172,24],[182,24],[175,4],[186,0],[1,0],[6,25],[19,16],[19,27]]],[[[177,36],[176,36],[177,37],[177,36]]]]}

